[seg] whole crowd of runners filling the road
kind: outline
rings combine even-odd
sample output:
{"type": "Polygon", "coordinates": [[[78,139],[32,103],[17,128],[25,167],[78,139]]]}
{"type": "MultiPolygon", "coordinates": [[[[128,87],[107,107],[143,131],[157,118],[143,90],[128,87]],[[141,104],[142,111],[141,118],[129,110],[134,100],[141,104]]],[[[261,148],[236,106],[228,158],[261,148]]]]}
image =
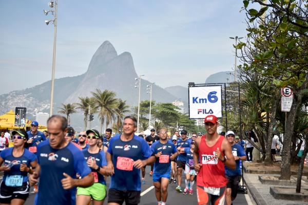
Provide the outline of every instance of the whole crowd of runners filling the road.
{"type": "Polygon", "coordinates": [[[100,205],[106,197],[109,205],[132,205],[140,203],[142,184],[153,183],[157,203],[165,205],[172,200],[167,202],[168,185],[175,183],[175,191],[196,194],[200,205],[232,204],[246,154],[233,131],[218,134],[218,124],[215,115],[208,115],[206,134],[181,130],[168,136],[162,128],[145,137],[135,135],[137,120],[126,116],[121,134],[111,136],[106,129],[103,136],[89,129],[75,137],[63,116],[51,116],[45,133],[33,121],[30,131],[11,133],[11,148],[0,136],[6,147],[0,153],[0,203],[23,204],[34,186],[39,205],[100,205]],[[152,181],[145,181],[146,166],[151,166],[152,181]]]}

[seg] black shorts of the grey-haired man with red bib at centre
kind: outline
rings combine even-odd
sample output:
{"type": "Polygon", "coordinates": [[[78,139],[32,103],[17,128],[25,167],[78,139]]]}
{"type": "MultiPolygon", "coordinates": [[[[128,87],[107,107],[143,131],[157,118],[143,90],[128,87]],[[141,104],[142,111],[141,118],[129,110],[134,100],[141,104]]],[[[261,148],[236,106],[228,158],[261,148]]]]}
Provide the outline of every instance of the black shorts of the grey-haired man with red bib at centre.
{"type": "Polygon", "coordinates": [[[126,205],[134,205],[140,203],[140,191],[120,191],[109,189],[108,203],[119,203],[126,205]]]}

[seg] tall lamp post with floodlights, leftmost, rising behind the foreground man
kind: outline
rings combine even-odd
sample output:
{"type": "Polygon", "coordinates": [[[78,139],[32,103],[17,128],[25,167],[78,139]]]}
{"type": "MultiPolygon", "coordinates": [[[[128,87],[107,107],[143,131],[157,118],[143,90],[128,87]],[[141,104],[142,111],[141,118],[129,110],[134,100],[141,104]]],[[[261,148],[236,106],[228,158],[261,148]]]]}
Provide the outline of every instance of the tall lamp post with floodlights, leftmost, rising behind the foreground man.
{"type": "Polygon", "coordinates": [[[48,3],[48,6],[50,8],[54,7],[54,10],[46,11],[44,10],[45,15],[47,15],[49,12],[54,15],[53,20],[45,20],[46,25],[48,25],[50,22],[54,25],[54,34],[53,34],[53,55],[52,55],[52,71],[51,71],[51,91],[50,91],[50,110],[49,115],[51,116],[53,113],[53,91],[54,91],[54,71],[55,71],[55,47],[56,47],[56,24],[57,24],[57,0],[54,2],[51,1],[48,3]]]}

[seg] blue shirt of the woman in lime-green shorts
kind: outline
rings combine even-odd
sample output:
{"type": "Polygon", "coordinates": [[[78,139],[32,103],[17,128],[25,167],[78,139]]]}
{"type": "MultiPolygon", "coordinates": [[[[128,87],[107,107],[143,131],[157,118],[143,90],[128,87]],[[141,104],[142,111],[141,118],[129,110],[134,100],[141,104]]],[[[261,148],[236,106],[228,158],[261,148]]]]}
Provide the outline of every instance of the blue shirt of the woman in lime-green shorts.
{"type": "MultiPolygon", "coordinates": [[[[88,160],[88,158],[93,158],[95,160],[96,164],[99,167],[107,166],[107,161],[106,161],[106,156],[105,156],[105,152],[104,151],[100,151],[98,153],[91,154],[88,150],[83,150],[82,153],[84,154],[86,161],[88,160]]],[[[96,170],[94,170],[92,168],[90,168],[90,169],[91,169],[92,173],[97,173],[98,182],[103,183],[103,185],[106,185],[106,181],[105,181],[104,175],[102,175],[101,173],[99,173],[98,171],[96,171],[96,170]]]]}

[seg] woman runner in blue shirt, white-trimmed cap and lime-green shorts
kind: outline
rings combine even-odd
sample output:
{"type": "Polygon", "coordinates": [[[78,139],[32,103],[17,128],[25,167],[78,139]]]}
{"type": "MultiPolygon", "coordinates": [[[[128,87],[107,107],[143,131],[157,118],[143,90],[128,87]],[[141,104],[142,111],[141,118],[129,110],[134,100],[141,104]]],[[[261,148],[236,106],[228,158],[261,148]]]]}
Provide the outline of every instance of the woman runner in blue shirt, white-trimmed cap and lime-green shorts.
{"type": "Polygon", "coordinates": [[[100,133],[97,130],[87,130],[87,138],[89,149],[83,151],[88,166],[91,168],[91,174],[94,176],[94,183],[87,188],[77,188],[77,205],[89,204],[91,198],[93,204],[102,205],[106,197],[106,156],[105,152],[101,151],[98,146],[100,133]]]}

